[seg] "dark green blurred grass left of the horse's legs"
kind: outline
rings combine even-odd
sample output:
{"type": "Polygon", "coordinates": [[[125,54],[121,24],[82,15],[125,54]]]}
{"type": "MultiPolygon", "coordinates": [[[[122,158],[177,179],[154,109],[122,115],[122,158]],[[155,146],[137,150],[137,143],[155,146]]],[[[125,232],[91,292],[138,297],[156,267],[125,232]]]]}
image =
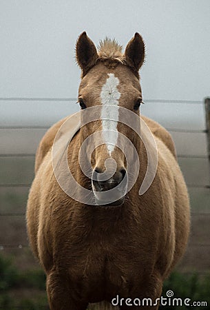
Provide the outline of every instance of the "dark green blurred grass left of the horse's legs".
{"type": "Polygon", "coordinates": [[[21,271],[11,258],[0,256],[0,309],[49,309],[45,274],[41,269],[21,271]],[[30,296],[30,297],[28,297],[30,296]]]}

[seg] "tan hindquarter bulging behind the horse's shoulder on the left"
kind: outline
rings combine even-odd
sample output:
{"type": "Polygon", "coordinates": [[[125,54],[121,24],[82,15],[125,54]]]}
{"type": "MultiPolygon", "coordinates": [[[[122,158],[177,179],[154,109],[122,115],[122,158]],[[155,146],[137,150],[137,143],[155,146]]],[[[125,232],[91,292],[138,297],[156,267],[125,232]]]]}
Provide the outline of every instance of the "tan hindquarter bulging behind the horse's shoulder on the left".
{"type": "Polygon", "coordinates": [[[52,125],[52,127],[49,128],[49,130],[45,133],[45,135],[41,139],[39,146],[36,150],[35,174],[39,169],[39,166],[41,165],[43,158],[45,158],[45,155],[48,154],[50,148],[52,147],[56,133],[58,132],[59,128],[65,122],[66,119],[67,117],[61,119],[60,121],[52,125]]]}

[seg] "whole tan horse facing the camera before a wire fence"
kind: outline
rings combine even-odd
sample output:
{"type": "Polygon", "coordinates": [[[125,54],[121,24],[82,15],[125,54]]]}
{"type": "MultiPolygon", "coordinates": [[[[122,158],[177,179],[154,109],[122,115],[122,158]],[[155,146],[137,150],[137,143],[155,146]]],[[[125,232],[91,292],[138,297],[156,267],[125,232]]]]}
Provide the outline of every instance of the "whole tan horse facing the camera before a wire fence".
{"type": "Polygon", "coordinates": [[[52,310],[158,309],[187,247],[189,196],[174,141],[140,115],[144,59],[137,32],[125,52],[109,38],[96,48],[83,32],[81,110],[36,151],[26,220],[52,310]]]}

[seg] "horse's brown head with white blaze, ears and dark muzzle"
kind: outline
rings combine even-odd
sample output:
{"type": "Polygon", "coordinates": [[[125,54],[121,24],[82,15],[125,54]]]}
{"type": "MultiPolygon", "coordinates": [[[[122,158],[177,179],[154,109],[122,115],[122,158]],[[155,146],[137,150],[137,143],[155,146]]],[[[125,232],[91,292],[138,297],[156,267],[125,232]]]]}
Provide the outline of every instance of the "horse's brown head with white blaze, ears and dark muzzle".
{"type": "Polygon", "coordinates": [[[110,39],[101,42],[97,51],[85,32],[76,43],[76,60],[82,70],[78,103],[84,110],[81,123],[85,124],[81,142],[89,141],[85,149],[87,156],[91,154],[92,189],[100,203],[121,205],[127,191],[124,151],[127,147],[129,156],[134,156],[127,141],[136,146],[135,132],[127,122],[138,119],[130,117],[129,111],[139,114],[142,93],[138,70],[144,56],[145,45],[138,33],[124,54],[110,39]]]}

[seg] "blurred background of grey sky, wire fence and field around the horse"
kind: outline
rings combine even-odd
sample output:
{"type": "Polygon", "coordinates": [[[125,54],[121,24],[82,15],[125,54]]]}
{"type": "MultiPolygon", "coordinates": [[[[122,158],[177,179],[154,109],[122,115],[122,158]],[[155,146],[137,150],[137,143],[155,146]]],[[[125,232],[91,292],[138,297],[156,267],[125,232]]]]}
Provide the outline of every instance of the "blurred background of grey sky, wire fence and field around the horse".
{"type": "Polygon", "coordinates": [[[111,37],[125,47],[135,32],[145,40],[141,113],[173,136],[191,198],[189,246],[165,290],[192,300],[209,298],[204,110],[204,98],[210,96],[209,16],[209,0],[1,0],[1,309],[48,309],[45,277],[28,247],[25,206],[41,137],[50,125],[78,111],[80,70],[74,47],[84,30],[96,45],[111,37]]]}

